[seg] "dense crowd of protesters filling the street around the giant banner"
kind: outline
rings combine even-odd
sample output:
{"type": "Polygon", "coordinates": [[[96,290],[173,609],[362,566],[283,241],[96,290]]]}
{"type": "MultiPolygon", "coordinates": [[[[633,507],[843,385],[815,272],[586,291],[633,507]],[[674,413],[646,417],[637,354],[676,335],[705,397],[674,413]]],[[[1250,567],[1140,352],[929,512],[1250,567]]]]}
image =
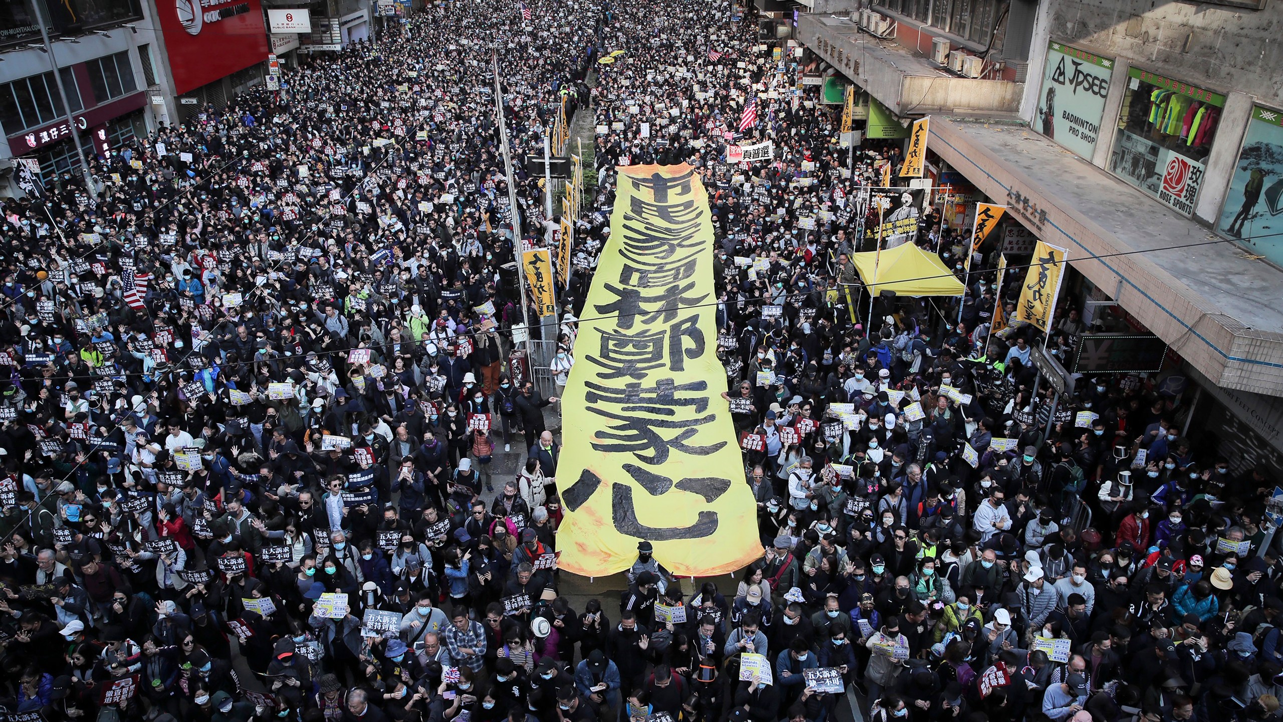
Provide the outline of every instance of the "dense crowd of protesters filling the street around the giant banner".
{"type": "Polygon", "coordinates": [[[839,144],[821,72],[725,1],[430,5],[112,149],[92,189],[4,200],[10,718],[820,722],[845,690],[879,722],[1283,717],[1273,471],[1155,378],[1039,383],[1084,322],[993,324],[1019,283],[930,208],[911,240],[965,298],[863,294],[861,189],[902,154],[839,144]],[[522,159],[562,107],[595,185],[540,392],[508,269],[556,244],[522,159]],[[680,162],[766,554],[676,579],[639,540],[627,590],[575,608],[545,411],[615,166],[680,162]]]}

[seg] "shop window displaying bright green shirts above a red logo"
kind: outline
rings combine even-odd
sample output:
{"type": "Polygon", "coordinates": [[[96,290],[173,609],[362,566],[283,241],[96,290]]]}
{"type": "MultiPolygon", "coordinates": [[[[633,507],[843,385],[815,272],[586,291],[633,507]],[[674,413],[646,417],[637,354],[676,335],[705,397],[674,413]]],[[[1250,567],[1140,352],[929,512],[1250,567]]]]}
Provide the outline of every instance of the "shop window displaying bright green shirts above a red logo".
{"type": "Polygon", "coordinates": [[[1132,68],[1110,171],[1192,216],[1225,96],[1132,68]]]}

